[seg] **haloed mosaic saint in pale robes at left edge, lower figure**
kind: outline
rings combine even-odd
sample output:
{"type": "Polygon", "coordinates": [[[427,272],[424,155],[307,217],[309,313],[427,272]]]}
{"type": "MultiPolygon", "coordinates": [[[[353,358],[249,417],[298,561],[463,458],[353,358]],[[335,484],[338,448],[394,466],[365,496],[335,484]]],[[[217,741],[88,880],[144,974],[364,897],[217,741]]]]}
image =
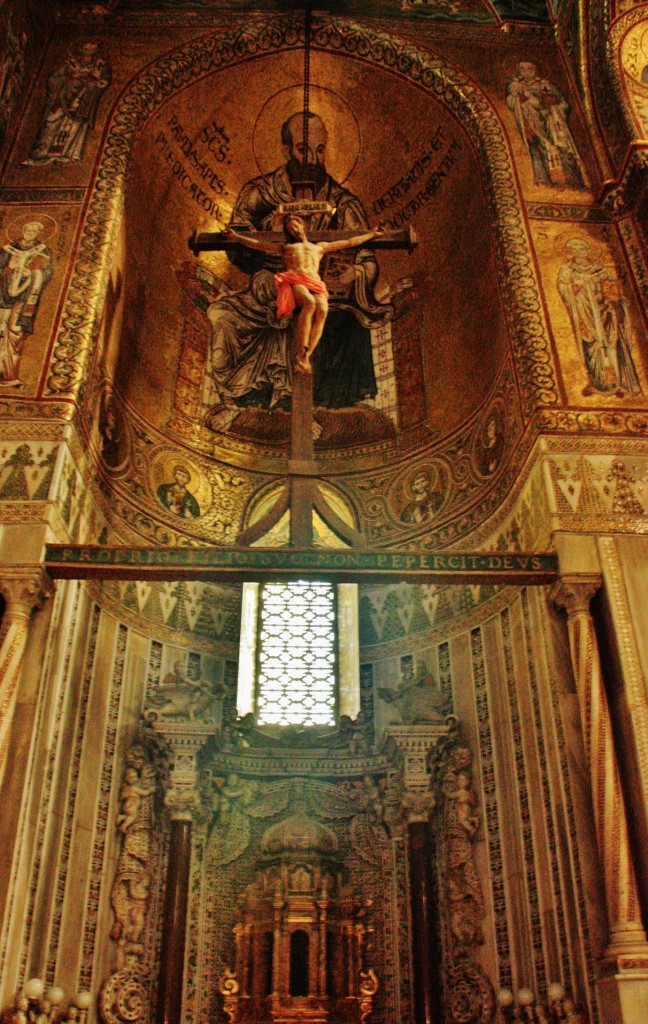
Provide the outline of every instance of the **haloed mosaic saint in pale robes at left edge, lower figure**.
{"type": "Polygon", "coordinates": [[[0,249],[0,387],[23,387],[25,339],[34,334],[41,294],[52,276],[50,251],[39,241],[42,230],[39,221],[29,221],[19,239],[0,249]]]}

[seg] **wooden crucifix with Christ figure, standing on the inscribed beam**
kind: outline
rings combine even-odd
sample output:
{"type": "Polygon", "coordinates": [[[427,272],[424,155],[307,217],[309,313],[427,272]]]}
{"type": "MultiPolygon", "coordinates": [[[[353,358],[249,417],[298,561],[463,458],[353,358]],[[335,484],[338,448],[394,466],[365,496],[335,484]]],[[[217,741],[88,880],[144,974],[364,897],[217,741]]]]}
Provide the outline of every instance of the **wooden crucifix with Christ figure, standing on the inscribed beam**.
{"type": "Polygon", "coordinates": [[[331,508],[317,479],[313,443],[313,389],[310,357],[321,336],[327,312],[328,293],[319,276],[319,264],[327,253],[359,248],[371,244],[372,249],[405,249],[409,253],[418,245],[412,227],[400,231],[320,230],[308,232],[304,221],[313,214],[335,213],[334,208],[322,210],[316,201],[296,200],[280,209],[285,231],[253,231],[240,233],[231,228],[225,231],[193,232],[189,249],[198,256],[201,252],[232,252],[242,248],[259,253],[280,256],[284,269],[275,274],[277,312],[294,310],[291,358],[293,360],[293,392],[291,419],[291,453],[288,480],[272,508],[253,526],[243,530],[237,538],[241,545],[253,544],[274,526],[290,511],[291,546],[311,547],[313,543],[312,516],[316,511],[327,525],[343,541],[359,546],[362,538],[331,508]]]}

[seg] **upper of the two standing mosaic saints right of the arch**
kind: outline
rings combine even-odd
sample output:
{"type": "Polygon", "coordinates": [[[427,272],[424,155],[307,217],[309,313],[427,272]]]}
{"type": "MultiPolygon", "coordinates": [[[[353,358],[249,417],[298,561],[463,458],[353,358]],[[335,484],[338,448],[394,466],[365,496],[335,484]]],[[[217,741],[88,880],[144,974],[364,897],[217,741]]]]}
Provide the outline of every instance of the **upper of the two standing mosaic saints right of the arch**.
{"type": "Polygon", "coordinates": [[[569,106],[562,92],[541,78],[537,68],[521,60],[509,82],[507,105],[513,113],[531,158],[536,185],[585,188],[582,162],[569,129],[569,106]]]}

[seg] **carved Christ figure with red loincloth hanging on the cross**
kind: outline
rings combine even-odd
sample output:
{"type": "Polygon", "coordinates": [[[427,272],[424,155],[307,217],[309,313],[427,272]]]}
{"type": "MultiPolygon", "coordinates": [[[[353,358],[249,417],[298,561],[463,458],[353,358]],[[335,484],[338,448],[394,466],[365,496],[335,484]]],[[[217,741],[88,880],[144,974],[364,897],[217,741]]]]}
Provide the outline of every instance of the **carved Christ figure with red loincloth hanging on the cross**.
{"type": "Polygon", "coordinates": [[[299,309],[296,333],[295,371],[300,374],[312,372],[310,357],[321,338],[329,312],[329,293],[319,276],[319,264],[326,253],[341,249],[355,249],[380,238],[379,228],[364,231],[350,239],[336,239],[333,242],[309,242],[301,217],[289,216],[284,225],[286,242],[267,242],[260,238],[240,234],[233,228],[225,231],[225,238],[248,249],[269,255],[280,255],[284,270],[274,275],[276,285],[276,310],[279,315],[299,309]]]}

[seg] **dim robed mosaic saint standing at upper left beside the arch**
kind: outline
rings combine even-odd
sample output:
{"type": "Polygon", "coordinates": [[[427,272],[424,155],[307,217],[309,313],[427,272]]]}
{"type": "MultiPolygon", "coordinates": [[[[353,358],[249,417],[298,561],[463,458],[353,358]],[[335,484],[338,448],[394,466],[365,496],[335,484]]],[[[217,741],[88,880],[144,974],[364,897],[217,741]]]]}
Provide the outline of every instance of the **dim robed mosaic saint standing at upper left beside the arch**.
{"type": "Polygon", "coordinates": [[[70,51],[47,82],[45,111],[27,164],[81,160],[111,76],[97,43],[82,43],[70,51]]]}

